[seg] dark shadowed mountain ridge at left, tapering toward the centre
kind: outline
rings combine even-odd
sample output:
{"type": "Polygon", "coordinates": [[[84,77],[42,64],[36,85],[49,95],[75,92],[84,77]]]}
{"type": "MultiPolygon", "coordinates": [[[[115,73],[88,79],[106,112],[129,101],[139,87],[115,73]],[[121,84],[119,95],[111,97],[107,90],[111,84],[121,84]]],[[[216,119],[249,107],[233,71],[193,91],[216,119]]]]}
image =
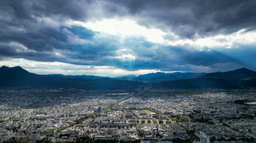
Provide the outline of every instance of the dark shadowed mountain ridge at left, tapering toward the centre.
{"type": "Polygon", "coordinates": [[[78,88],[111,90],[136,88],[142,82],[116,79],[71,79],[29,73],[22,67],[0,67],[0,88],[78,88]]]}

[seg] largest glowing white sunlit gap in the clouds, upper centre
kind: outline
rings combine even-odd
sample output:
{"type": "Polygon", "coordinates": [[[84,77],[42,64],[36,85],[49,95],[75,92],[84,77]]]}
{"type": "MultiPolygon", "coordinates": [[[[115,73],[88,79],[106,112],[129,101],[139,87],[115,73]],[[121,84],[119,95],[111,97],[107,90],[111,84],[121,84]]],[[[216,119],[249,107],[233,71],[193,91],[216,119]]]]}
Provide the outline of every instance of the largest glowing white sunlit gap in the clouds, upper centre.
{"type": "Polygon", "coordinates": [[[153,43],[163,43],[163,36],[166,34],[160,29],[146,28],[138,25],[136,21],[131,19],[103,19],[96,22],[78,22],[70,21],[69,25],[81,25],[85,28],[90,28],[93,31],[104,32],[112,35],[138,35],[146,37],[146,39],[153,43]]]}

